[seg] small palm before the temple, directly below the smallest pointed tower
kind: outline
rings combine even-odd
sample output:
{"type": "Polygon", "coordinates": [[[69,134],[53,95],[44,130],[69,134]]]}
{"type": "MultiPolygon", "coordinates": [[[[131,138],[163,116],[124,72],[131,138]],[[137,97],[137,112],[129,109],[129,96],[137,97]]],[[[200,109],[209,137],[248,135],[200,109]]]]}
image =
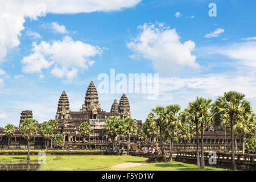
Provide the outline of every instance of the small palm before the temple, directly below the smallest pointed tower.
{"type": "Polygon", "coordinates": [[[120,118],[117,116],[110,116],[105,123],[105,131],[106,134],[109,135],[109,137],[112,139],[112,148],[114,151],[115,146],[115,137],[117,137],[118,134],[118,127],[120,123],[120,118]]]}

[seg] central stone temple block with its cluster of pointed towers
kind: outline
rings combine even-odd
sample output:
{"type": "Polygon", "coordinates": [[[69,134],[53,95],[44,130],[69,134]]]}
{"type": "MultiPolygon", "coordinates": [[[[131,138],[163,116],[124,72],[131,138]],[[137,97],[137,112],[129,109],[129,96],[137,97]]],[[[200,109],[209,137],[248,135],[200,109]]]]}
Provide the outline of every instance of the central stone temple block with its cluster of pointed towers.
{"type": "Polygon", "coordinates": [[[80,111],[70,111],[67,94],[63,91],[60,96],[56,121],[59,123],[59,133],[64,135],[66,142],[76,141],[80,138],[79,126],[83,122],[88,122],[91,126],[90,140],[106,140],[105,122],[112,115],[121,118],[131,117],[129,101],[125,94],[120,99],[114,101],[110,112],[101,109],[98,102],[98,93],[93,81],[90,82],[85,94],[85,101],[80,111]]]}

